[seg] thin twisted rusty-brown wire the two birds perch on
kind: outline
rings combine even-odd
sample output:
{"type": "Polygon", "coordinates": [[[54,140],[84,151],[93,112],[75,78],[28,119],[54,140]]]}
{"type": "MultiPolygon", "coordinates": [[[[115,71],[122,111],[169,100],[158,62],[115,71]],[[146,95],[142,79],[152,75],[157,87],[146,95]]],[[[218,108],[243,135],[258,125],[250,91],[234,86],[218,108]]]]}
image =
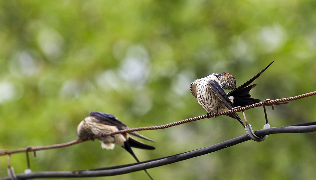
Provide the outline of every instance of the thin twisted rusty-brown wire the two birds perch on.
{"type": "MultiPolygon", "coordinates": [[[[313,96],[313,95],[316,95],[316,91],[305,93],[305,94],[301,94],[301,95],[298,95],[298,96],[293,96],[293,97],[287,97],[287,98],[281,98],[281,99],[275,99],[275,100],[271,100],[271,101],[266,101],[265,105],[275,104],[275,103],[279,103],[279,102],[293,101],[293,100],[297,100],[297,99],[301,99],[301,98],[308,97],[308,96],[313,96]]],[[[248,110],[248,109],[251,109],[251,108],[254,108],[254,107],[262,106],[263,104],[264,104],[264,102],[258,102],[256,104],[252,104],[252,105],[249,105],[249,106],[246,106],[246,107],[241,107],[239,109],[223,111],[223,112],[217,113],[216,116],[221,116],[221,115],[225,115],[225,114],[245,111],[245,110],[248,110]]],[[[211,117],[213,117],[213,114],[209,114],[208,115],[208,118],[211,118],[211,117]]],[[[189,119],[184,119],[184,120],[181,120],[181,121],[169,123],[169,124],[166,124],[166,125],[138,127],[138,128],[119,130],[119,131],[115,131],[115,132],[107,132],[107,133],[102,133],[100,135],[93,136],[92,139],[99,138],[101,136],[103,136],[103,137],[104,136],[111,136],[111,135],[114,135],[114,134],[128,133],[128,132],[132,132],[132,131],[166,129],[166,128],[173,127],[173,126],[176,126],[176,125],[181,125],[181,124],[185,124],[185,123],[188,123],[188,122],[197,121],[197,120],[201,120],[201,119],[205,119],[205,118],[207,118],[207,116],[203,115],[203,116],[198,116],[198,117],[194,117],[194,118],[189,118],[189,119]]],[[[64,148],[64,147],[68,147],[68,146],[71,146],[71,145],[74,145],[74,144],[77,144],[77,143],[80,143],[80,142],[84,142],[84,141],[87,141],[87,140],[75,140],[75,141],[70,141],[70,142],[61,143],[61,144],[53,144],[53,145],[39,146],[39,147],[28,147],[28,148],[21,148],[21,149],[15,149],[15,150],[2,150],[2,151],[0,151],[0,156],[7,155],[7,154],[21,153],[21,152],[31,152],[31,151],[35,152],[35,151],[46,150],[46,149],[64,148]]]]}

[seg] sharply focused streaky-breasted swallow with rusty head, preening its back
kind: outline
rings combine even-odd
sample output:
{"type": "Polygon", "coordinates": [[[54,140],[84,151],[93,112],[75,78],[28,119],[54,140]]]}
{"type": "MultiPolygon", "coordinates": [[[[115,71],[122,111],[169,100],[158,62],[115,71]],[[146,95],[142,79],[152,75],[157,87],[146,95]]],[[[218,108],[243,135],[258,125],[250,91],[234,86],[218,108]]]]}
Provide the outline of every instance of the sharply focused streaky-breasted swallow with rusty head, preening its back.
{"type": "MultiPolygon", "coordinates": [[[[248,106],[260,102],[249,94],[257,84],[250,85],[263,73],[274,61],[265,67],[260,73],[255,75],[246,83],[236,88],[236,80],[229,73],[212,73],[205,78],[197,79],[190,85],[191,93],[197,98],[198,103],[208,112],[214,113],[231,110],[233,107],[248,106]],[[225,93],[224,90],[232,90],[225,93]]],[[[241,121],[237,113],[227,114],[237,119],[241,125],[241,121]]],[[[215,116],[216,117],[216,116],[215,116]]]]}

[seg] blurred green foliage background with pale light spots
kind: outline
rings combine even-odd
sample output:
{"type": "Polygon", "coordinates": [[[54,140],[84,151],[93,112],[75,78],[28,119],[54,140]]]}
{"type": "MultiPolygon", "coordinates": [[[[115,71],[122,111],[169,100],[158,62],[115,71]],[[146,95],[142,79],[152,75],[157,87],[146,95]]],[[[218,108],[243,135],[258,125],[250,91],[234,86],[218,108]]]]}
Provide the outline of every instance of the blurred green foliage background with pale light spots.
{"type": "MultiPolygon", "coordinates": [[[[228,72],[237,86],[261,71],[253,97],[276,99],[316,90],[316,1],[1,1],[0,149],[76,139],[89,111],[115,114],[130,127],[205,114],[189,85],[228,72]]],[[[270,125],[316,119],[316,97],[268,108],[270,125]]],[[[241,115],[241,114],[240,114],[241,115]]],[[[246,111],[254,129],[262,108],[246,111]]],[[[229,117],[141,131],[149,160],[245,134],[229,117]]],[[[33,171],[72,171],[134,163],[123,148],[98,141],[38,151],[33,171]]],[[[13,154],[16,173],[25,154],[13,154]]],[[[149,169],[159,179],[313,179],[316,134],[270,135],[212,154],[149,169]]],[[[0,157],[0,177],[7,176],[0,157]]],[[[83,178],[84,179],[84,178],[83,178]]],[[[91,179],[91,178],[87,178],[91,179]]],[[[148,179],[143,171],[92,179],[148,179]]]]}

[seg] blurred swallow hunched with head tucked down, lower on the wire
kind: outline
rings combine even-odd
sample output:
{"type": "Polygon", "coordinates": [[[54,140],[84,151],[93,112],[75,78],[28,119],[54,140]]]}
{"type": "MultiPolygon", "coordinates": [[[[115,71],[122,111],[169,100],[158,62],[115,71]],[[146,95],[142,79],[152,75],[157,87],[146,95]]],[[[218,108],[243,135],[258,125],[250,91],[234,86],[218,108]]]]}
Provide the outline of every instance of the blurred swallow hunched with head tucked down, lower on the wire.
{"type": "MultiPolygon", "coordinates": [[[[89,116],[83,119],[78,125],[77,140],[87,140],[104,132],[115,132],[123,129],[128,129],[128,127],[119,119],[117,119],[113,114],[91,111],[89,116]]],[[[141,134],[138,134],[137,132],[129,132],[129,134],[151,142],[155,142],[141,134]]],[[[127,133],[99,137],[98,139],[101,142],[101,147],[103,149],[113,149],[114,144],[117,144],[128,151],[137,162],[139,162],[139,160],[133,153],[131,147],[149,150],[155,149],[155,147],[138,141],[129,136],[127,133]]],[[[153,179],[146,170],[144,171],[147,173],[150,179],[153,179]]]]}

